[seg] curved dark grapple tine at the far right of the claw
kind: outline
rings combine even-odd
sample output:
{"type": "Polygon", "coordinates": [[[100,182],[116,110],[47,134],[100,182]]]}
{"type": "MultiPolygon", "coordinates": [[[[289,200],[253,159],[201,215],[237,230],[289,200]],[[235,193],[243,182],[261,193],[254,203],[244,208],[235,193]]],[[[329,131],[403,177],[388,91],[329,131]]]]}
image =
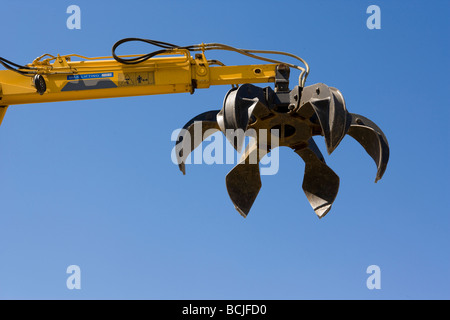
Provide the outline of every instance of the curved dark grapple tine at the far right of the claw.
{"type": "Polygon", "coordinates": [[[383,177],[389,161],[389,144],[383,131],[371,120],[351,113],[352,122],[348,134],[358,141],[377,165],[375,182],[383,177]]]}

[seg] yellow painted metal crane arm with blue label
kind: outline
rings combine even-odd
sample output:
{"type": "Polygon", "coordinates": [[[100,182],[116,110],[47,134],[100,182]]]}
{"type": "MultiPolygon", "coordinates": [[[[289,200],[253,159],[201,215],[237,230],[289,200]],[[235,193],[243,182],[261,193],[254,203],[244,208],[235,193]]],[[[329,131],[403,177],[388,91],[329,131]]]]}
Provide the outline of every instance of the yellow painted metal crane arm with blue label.
{"type": "MultiPolygon", "coordinates": [[[[276,64],[210,67],[204,54],[192,57],[184,49],[139,64],[121,64],[110,57],[71,61],[77,55],[36,59],[47,85],[37,93],[33,78],[0,71],[0,106],[139,95],[193,93],[211,85],[264,83],[275,80],[276,64]]],[[[6,111],[6,108],[2,108],[6,111]]],[[[0,112],[3,117],[4,111],[0,112]]]]}

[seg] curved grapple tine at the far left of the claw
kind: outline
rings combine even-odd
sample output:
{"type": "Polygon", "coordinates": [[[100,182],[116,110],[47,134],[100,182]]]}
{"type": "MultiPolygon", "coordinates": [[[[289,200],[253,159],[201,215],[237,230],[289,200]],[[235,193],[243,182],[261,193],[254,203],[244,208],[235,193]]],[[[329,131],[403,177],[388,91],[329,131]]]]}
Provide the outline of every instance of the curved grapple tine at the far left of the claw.
{"type": "Polygon", "coordinates": [[[186,174],[185,161],[189,154],[194,151],[205,138],[220,130],[216,120],[218,113],[219,110],[201,113],[191,119],[184,125],[183,129],[181,129],[175,144],[175,152],[178,167],[183,174],[186,174]],[[198,135],[200,135],[200,137],[198,135]]]}

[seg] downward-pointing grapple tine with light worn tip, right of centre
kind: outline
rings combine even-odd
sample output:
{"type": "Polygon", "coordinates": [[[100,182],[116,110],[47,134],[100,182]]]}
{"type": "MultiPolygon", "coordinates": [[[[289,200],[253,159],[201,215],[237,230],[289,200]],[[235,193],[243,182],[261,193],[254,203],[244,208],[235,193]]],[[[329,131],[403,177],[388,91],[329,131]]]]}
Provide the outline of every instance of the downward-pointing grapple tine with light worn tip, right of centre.
{"type": "Polygon", "coordinates": [[[336,199],[339,177],[325,164],[322,153],[311,138],[308,147],[295,150],[305,161],[303,191],[319,218],[323,218],[336,199]]]}

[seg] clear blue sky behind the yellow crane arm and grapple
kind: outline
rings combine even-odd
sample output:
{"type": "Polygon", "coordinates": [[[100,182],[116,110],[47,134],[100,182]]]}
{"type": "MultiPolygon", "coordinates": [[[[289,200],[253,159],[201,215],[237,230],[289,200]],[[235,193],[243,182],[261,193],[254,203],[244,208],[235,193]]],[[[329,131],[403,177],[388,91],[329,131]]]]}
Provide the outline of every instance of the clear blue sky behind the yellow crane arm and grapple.
{"type": "Polygon", "coordinates": [[[0,56],[19,64],[109,55],[124,37],[294,53],[307,85],[337,87],[383,129],[391,157],[375,184],[372,159],[344,138],[325,156],[341,180],[319,220],[303,161],[281,148],[243,219],[225,187],[232,165],[183,176],[170,157],[172,131],[220,109],[228,87],[12,106],[0,127],[1,299],[450,298],[448,2],[5,1],[2,13],[0,56]],[[66,27],[72,4],[80,30],[66,27]],[[366,27],[371,4],[379,30],[366,27]],[[80,290],[66,287],[69,265],[80,290]],[[366,286],[370,265],[379,290],[366,286]]]}

